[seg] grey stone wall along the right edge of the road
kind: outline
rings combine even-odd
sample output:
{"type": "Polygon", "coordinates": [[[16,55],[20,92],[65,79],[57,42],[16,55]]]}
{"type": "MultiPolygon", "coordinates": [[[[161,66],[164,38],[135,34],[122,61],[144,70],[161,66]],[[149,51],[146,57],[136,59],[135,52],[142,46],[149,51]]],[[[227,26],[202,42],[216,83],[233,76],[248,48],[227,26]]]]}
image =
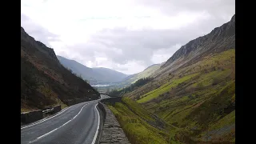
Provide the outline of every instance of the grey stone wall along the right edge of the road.
{"type": "MultiPolygon", "coordinates": [[[[103,99],[103,102],[116,102],[118,98],[114,98],[113,101],[111,101],[111,98],[108,98],[109,100],[103,99]]],[[[120,99],[120,98],[119,98],[120,99]]],[[[104,108],[106,113],[105,122],[102,128],[102,137],[100,139],[99,143],[122,143],[122,144],[130,144],[128,141],[128,138],[126,138],[126,134],[122,130],[121,126],[118,123],[118,120],[115,118],[114,114],[111,112],[111,110],[105,105],[99,102],[99,108],[104,108]]],[[[104,117],[104,116],[103,116],[104,117]]]]}

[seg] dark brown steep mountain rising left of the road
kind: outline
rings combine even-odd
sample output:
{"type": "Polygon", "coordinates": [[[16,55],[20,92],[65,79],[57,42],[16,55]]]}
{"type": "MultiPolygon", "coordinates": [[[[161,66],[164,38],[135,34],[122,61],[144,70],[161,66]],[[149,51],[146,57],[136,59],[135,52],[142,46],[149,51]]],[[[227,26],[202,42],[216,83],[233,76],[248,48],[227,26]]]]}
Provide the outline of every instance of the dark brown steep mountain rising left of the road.
{"type": "Polygon", "coordinates": [[[98,99],[98,92],[58,61],[54,50],[21,27],[21,109],[62,108],[77,98],[98,99]]]}

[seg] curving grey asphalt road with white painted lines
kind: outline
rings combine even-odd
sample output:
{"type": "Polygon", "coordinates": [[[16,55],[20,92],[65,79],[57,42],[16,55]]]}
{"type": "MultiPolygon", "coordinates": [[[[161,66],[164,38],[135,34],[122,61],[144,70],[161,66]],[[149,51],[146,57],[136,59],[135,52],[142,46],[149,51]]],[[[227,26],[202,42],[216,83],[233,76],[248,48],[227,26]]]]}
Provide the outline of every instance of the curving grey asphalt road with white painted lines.
{"type": "Polygon", "coordinates": [[[97,105],[98,100],[78,103],[50,118],[22,126],[21,143],[94,144],[100,119],[97,105]]]}

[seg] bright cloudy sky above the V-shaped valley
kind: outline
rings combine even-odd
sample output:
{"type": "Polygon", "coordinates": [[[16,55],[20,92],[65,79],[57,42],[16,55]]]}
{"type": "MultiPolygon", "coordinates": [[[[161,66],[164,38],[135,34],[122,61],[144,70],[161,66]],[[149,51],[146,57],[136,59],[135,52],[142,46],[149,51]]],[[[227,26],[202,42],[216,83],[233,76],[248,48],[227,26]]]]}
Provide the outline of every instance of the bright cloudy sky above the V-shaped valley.
{"type": "Polygon", "coordinates": [[[55,54],[135,74],[235,14],[234,0],[22,0],[21,26],[55,54]]]}

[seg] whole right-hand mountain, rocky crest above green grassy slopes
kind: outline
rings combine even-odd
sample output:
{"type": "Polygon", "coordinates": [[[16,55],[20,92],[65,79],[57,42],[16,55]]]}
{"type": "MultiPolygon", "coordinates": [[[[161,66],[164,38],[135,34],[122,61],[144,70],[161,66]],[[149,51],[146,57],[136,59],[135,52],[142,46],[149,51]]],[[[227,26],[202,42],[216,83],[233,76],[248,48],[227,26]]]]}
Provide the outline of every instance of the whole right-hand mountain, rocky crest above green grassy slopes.
{"type": "Polygon", "coordinates": [[[150,77],[123,97],[166,122],[166,143],[235,142],[235,15],[186,43],[150,77]]]}

